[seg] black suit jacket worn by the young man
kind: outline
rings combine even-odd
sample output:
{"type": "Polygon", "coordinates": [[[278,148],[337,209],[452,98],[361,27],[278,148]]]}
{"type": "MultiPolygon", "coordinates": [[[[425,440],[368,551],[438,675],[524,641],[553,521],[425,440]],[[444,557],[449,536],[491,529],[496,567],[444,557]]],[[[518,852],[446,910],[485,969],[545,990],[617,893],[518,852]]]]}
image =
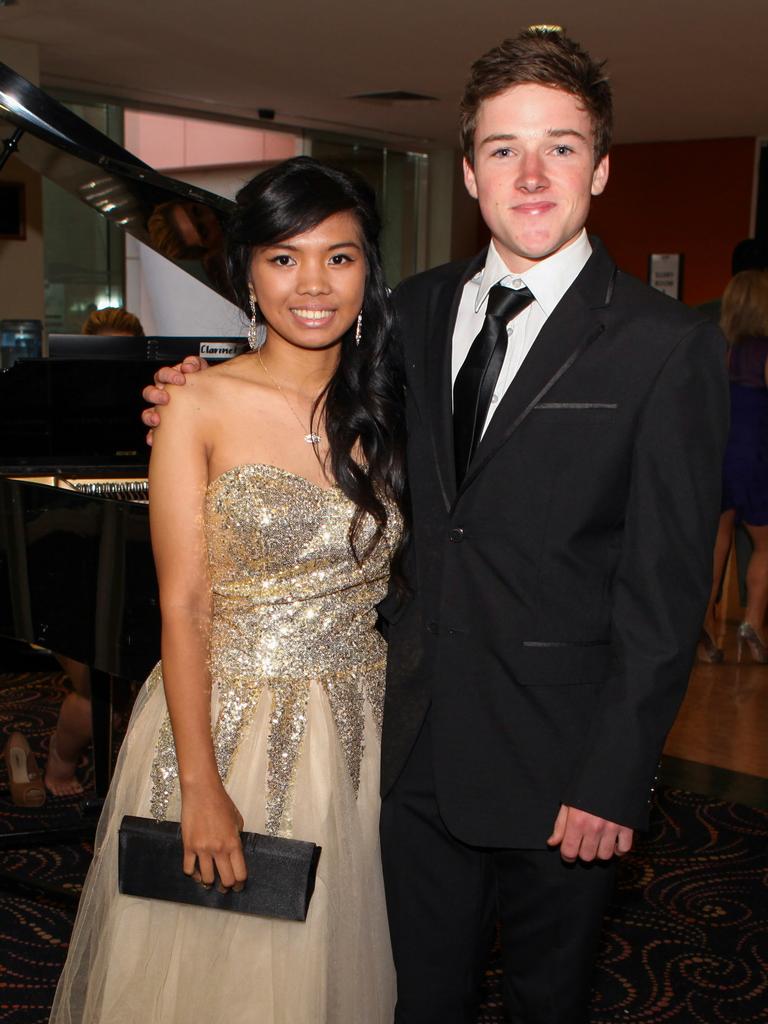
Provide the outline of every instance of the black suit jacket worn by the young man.
{"type": "Polygon", "coordinates": [[[429,711],[440,812],[482,846],[544,846],[561,803],[646,825],[710,590],[724,339],[593,250],[459,488],[451,342],[484,253],[395,293],[414,597],[382,608],[382,792],[429,711]]]}

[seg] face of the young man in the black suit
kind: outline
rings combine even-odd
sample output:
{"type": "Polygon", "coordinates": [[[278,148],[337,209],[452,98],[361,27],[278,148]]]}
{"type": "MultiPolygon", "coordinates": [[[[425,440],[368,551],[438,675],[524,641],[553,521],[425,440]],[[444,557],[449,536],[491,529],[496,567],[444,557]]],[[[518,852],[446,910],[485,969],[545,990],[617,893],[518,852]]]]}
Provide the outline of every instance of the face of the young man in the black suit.
{"type": "Polygon", "coordinates": [[[464,182],[510,270],[569,245],[607,179],[608,158],[594,166],[592,123],[570,93],[513,85],[480,104],[464,182]]]}

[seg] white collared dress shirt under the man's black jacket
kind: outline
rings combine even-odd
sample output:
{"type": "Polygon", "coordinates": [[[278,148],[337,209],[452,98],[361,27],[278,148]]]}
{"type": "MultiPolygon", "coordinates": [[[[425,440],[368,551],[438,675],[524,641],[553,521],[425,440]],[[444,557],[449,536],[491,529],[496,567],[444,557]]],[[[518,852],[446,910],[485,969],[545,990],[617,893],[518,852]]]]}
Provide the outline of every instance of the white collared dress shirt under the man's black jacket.
{"type": "Polygon", "coordinates": [[[528,288],[534,295],[530,305],[507,325],[507,354],[490,398],[483,433],[547,317],[579,276],[591,255],[592,246],[587,231],[582,228],[582,233],[565,249],[548,256],[524,273],[511,273],[492,242],[485,266],[464,286],[454,328],[452,388],[472,342],[483,325],[488,292],[494,285],[504,285],[515,291],[528,288]]]}

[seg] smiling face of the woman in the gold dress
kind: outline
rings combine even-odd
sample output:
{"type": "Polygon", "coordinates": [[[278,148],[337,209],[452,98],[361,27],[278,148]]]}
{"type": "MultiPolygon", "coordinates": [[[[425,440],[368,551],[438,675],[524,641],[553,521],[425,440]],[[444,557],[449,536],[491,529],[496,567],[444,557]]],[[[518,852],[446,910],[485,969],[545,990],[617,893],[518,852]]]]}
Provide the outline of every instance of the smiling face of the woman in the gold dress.
{"type": "Polygon", "coordinates": [[[254,298],[275,336],[300,348],[327,348],[362,307],[366,257],[357,218],[335,213],[311,230],[254,249],[254,298]]]}

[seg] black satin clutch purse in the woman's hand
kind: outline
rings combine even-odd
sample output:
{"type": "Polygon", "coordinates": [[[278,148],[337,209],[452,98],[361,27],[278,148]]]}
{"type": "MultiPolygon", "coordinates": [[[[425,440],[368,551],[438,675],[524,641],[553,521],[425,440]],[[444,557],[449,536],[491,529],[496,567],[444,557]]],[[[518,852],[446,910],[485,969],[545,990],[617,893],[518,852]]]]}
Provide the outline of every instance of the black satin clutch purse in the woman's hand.
{"type": "Polygon", "coordinates": [[[193,903],[216,910],[306,921],[321,848],[298,839],[242,833],[248,881],[242,892],[204,888],[181,870],[178,821],[126,814],[120,824],[118,888],[126,896],[193,903]]]}

